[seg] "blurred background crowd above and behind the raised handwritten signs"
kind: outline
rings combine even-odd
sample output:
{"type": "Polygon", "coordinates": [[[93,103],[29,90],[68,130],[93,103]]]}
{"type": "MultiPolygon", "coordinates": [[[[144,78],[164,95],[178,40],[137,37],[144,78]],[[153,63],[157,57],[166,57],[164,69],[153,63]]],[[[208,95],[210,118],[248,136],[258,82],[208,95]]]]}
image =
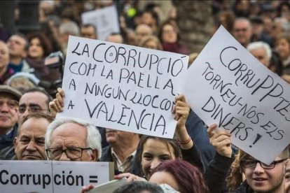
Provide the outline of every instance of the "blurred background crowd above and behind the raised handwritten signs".
{"type": "Polygon", "coordinates": [[[0,1],[0,84],[60,87],[69,35],[97,37],[81,14],[115,5],[120,33],[106,41],[198,56],[222,24],[262,64],[288,81],[289,1],[0,1]]]}

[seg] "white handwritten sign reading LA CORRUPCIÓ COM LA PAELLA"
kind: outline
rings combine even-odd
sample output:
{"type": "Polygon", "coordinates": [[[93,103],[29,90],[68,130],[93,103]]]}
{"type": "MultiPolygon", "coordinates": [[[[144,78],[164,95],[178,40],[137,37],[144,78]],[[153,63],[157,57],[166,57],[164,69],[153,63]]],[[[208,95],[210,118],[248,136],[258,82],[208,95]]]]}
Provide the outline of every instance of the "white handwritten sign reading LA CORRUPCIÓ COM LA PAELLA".
{"type": "Polygon", "coordinates": [[[184,91],[188,56],[69,37],[64,111],[96,126],[172,138],[174,97],[184,91]]]}

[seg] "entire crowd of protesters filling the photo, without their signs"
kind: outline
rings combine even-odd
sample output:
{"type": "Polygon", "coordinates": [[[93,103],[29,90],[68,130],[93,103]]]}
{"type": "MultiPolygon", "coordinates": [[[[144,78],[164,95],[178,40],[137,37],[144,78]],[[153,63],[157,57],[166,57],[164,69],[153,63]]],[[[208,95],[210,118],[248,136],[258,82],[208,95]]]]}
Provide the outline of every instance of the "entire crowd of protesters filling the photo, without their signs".
{"type": "MultiPolygon", "coordinates": [[[[120,2],[120,33],[112,31],[106,41],[189,55],[188,66],[198,57],[179,43],[173,4],[161,14],[158,1],[142,9],[137,1],[120,2]]],[[[290,83],[290,2],[210,2],[212,33],[222,24],[290,83]]],[[[81,13],[114,3],[39,1],[39,31],[0,36],[0,159],[114,162],[115,178],[127,178],[115,192],[290,192],[288,147],[271,164],[255,159],[231,144],[230,132],[207,127],[183,94],[172,110],[172,139],[95,127],[78,117],[55,119],[64,107],[65,93],[57,85],[69,35],[98,39],[95,25],[81,23],[81,13]],[[53,65],[51,53],[57,57],[53,65]]]]}

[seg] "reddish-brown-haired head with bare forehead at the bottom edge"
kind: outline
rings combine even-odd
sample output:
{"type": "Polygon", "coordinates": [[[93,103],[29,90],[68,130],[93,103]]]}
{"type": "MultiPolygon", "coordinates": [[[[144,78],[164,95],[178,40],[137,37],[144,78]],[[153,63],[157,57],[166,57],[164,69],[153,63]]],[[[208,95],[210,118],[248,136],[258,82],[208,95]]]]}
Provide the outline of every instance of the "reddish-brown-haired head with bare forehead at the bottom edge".
{"type": "Polygon", "coordinates": [[[167,184],[182,193],[206,193],[209,192],[205,179],[200,170],[181,159],[165,161],[153,170],[151,183],[158,185],[167,184]]]}

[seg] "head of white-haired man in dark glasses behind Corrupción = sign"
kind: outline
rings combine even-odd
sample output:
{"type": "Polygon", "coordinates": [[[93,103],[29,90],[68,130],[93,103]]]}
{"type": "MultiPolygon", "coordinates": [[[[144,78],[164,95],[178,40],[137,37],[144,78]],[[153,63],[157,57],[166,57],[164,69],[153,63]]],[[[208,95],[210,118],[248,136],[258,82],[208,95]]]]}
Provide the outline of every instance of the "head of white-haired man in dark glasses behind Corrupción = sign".
{"type": "Polygon", "coordinates": [[[46,154],[50,160],[96,162],[102,155],[101,140],[94,124],[63,117],[48,126],[46,154]]]}

